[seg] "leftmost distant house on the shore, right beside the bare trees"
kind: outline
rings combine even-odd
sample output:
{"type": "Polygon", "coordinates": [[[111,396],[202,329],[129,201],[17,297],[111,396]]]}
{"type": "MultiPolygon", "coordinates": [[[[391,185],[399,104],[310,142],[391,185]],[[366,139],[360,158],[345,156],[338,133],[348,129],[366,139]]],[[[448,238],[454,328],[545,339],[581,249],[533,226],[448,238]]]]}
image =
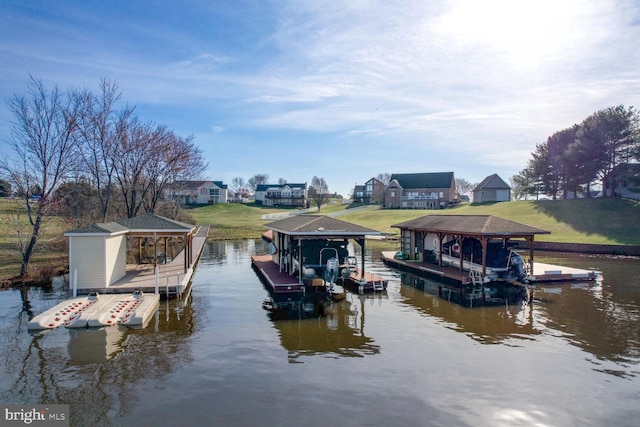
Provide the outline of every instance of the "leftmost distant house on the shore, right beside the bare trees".
{"type": "Polygon", "coordinates": [[[227,203],[229,190],[222,181],[176,181],[164,190],[165,200],[183,205],[227,203]]]}

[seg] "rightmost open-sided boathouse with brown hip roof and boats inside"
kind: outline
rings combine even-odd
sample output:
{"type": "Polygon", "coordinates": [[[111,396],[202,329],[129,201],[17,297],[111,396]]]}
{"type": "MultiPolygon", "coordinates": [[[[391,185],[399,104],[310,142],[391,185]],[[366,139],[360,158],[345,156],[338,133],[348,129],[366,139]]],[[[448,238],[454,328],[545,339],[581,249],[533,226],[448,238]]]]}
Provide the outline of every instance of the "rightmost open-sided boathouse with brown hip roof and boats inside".
{"type": "MultiPolygon", "coordinates": [[[[487,273],[487,249],[491,242],[499,241],[507,247],[511,239],[524,239],[529,247],[529,275],[533,275],[533,241],[537,234],[549,231],[510,221],[493,215],[427,215],[392,225],[401,234],[401,252],[405,259],[434,263],[442,267],[442,254],[453,248],[456,252],[471,252],[469,247],[479,245],[481,259],[473,260],[482,266],[482,277],[487,273]],[[458,247],[456,247],[456,245],[458,247]],[[436,254],[441,256],[436,257],[436,254]]],[[[463,271],[464,256],[456,258],[463,271]]]]}

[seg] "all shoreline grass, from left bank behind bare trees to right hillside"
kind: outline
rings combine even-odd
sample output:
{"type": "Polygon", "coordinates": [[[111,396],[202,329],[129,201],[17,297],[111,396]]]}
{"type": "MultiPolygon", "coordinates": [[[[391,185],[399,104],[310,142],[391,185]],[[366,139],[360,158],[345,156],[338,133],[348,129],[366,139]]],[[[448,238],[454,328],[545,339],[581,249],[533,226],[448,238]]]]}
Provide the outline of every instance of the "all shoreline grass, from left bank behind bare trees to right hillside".
{"type": "MultiPolygon", "coordinates": [[[[331,204],[320,214],[346,209],[346,205],[331,204]]],[[[16,231],[13,224],[17,210],[14,201],[0,199],[0,279],[15,276],[20,269],[20,255],[16,250],[16,231]]],[[[264,224],[274,219],[263,215],[283,213],[253,204],[207,205],[190,209],[187,213],[199,224],[211,224],[212,239],[259,238],[266,231],[264,224]]],[[[523,224],[542,228],[550,235],[537,236],[538,241],[640,245],[640,202],[625,199],[582,199],[556,201],[520,201],[465,204],[453,209],[402,210],[379,209],[371,206],[347,210],[339,219],[383,233],[398,234],[394,224],[424,215],[496,215],[523,224]]],[[[21,221],[26,221],[22,215],[21,221]]],[[[50,218],[32,259],[32,266],[67,264],[67,242],[63,233],[70,227],[62,218],[50,218]]],[[[25,229],[28,230],[28,229],[25,229]]]]}

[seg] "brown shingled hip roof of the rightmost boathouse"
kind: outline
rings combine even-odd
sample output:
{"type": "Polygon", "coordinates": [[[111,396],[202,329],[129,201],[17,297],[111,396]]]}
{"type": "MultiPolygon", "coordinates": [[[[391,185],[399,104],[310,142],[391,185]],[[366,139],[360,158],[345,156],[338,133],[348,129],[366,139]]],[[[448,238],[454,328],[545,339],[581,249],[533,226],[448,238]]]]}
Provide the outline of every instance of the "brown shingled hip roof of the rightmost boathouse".
{"type": "Polygon", "coordinates": [[[400,229],[485,237],[524,237],[549,231],[493,215],[426,215],[400,224],[400,229]]]}

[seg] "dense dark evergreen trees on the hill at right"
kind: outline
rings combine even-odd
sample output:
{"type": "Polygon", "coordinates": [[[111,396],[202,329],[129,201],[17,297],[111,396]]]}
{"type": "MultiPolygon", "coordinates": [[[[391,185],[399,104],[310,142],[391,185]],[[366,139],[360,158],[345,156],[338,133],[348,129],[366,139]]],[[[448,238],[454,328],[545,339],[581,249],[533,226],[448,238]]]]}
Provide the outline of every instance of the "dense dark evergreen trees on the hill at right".
{"type": "MultiPolygon", "coordinates": [[[[527,166],[511,178],[516,199],[571,193],[590,197],[596,183],[612,196],[619,166],[640,161],[640,115],[622,105],[596,111],[536,146],[527,166]]],[[[638,183],[640,185],[640,182],[638,183]]],[[[575,197],[575,196],[574,196],[575,197]]]]}

